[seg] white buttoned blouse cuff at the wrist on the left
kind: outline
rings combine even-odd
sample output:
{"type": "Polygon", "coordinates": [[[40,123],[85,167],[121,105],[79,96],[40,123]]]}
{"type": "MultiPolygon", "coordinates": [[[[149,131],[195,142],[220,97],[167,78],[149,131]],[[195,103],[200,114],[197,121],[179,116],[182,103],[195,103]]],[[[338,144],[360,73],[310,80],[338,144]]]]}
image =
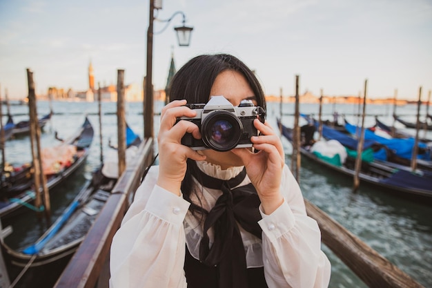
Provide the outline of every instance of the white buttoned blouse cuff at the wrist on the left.
{"type": "Polygon", "coordinates": [[[170,224],[181,225],[189,205],[183,198],[155,185],[145,210],[170,224]]]}

